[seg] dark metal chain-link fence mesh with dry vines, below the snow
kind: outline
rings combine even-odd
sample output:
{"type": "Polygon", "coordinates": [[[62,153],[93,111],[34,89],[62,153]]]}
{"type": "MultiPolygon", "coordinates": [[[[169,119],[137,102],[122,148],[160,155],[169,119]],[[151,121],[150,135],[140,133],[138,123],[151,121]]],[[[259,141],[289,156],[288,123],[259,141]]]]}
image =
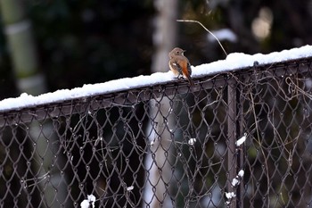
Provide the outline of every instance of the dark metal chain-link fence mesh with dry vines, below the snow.
{"type": "Polygon", "coordinates": [[[308,207],[311,62],[0,112],[0,205],[308,207]]]}

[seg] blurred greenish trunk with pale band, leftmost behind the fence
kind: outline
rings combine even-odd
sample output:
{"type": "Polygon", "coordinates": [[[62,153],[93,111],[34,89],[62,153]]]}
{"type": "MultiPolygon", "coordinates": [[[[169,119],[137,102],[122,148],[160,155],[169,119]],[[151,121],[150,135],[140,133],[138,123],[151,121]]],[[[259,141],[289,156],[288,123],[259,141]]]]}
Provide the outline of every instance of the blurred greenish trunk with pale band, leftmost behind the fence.
{"type": "MultiPolygon", "coordinates": [[[[20,92],[37,96],[46,92],[46,85],[44,76],[39,71],[31,22],[27,19],[23,3],[24,1],[21,0],[0,0],[0,7],[4,21],[4,33],[11,52],[16,85],[20,92]]],[[[42,201],[49,207],[61,207],[56,202],[62,203],[65,200],[67,185],[62,178],[61,170],[53,168],[59,165],[54,165],[52,146],[59,143],[53,134],[52,123],[32,122],[29,124],[29,129],[31,133],[27,138],[28,142],[36,143],[36,149],[27,150],[36,153],[33,158],[29,159],[32,162],[31,167],[34,169],[33,177],[43,181],[34,184],[39,188],[38,196],[35,196],[38,200],[37,203],[40,204],[42,201]],[[49,137],[46,137],[47,135],[49,137]],[[57,191],[54,187],[57,188],[57,191]],[[40,196],[41,193],[44,194],[43,198],[40,196]],[[55,193],[57,193],[56,197],[55,193]]],[[[62,159],[58,158],[57,161],[62,162],[62,159]]],[[[28,195],[30,194],[28,193],[28,195]]],[[[36,204],[33,205],[36,206],[36,204]]],[[[45,207],[45,205],[40,207],[45,207]]]]}

